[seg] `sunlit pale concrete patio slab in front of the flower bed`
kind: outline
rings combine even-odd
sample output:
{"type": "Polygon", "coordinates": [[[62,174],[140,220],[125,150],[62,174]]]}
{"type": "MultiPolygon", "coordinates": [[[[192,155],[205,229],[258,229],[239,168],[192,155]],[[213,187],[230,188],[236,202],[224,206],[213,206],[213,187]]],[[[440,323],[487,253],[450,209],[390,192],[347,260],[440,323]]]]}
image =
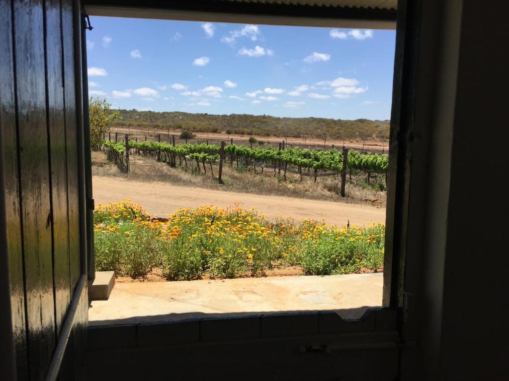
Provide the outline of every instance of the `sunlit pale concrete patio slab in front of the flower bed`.
{"type": "Polygon", "coordinates": [[[359,307],[382,305],[382,288],[382,273],[117,283],[109,300],[91,303],[89,324],[352,308],[362,314],[359,307]]]}

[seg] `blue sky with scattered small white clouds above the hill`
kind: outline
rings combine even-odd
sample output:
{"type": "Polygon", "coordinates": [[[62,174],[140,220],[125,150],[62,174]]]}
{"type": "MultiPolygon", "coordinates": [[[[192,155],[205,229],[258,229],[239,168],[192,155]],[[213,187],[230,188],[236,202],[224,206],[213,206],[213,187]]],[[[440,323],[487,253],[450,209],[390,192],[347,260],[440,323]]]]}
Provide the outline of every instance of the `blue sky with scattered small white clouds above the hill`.
{"type": "Polygon", "coordinates": [[[389,119],[395,31],[91,17],[89,94],[115,108],[389,119]]]}

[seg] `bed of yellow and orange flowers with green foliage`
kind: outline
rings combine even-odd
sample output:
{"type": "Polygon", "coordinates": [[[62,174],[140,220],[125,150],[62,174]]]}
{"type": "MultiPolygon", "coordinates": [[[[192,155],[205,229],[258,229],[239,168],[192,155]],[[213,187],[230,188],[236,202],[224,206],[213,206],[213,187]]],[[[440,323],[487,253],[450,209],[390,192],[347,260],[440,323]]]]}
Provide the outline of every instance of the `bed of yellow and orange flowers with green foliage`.
{"type": "Polygon", "coordinates": [[[98,207],[94,232],[96,269],[133,277],[154,267],[184,280],[205,273],[256,276],[285,265],[301,265],[313,275],[383,266],[382,224],[347,229],[290,218],[271,222],[238,207],[181,209],[163,223],[125,200],[98,207]]]}

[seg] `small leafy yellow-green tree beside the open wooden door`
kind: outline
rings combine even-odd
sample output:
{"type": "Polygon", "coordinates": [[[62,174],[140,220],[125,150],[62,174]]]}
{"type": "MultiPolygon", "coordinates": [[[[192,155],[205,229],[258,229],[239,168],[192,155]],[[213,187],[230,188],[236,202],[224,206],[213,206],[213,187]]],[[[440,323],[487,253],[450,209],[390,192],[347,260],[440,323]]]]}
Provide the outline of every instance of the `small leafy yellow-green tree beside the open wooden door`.
{"type": "Polygon", "coordinates": [[[119,110],[110,110],[111,104],[106,99],[93,98],[89,100],[90,146],[99,147],[103,134],[109,133],[111,128],[122,120],[119,110]]]}

